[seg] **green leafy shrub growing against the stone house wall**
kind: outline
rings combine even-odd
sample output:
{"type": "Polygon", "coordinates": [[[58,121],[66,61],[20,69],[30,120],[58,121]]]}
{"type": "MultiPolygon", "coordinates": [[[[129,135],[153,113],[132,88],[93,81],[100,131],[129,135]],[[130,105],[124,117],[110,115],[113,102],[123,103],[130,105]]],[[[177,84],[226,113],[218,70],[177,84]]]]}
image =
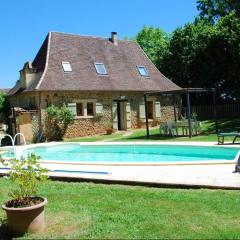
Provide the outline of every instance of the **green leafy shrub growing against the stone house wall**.
{"type": "Polygon", "coordinates": [[[62,140],[67,127],[73,123],[74,116],[72,112],[63,105],[58,108],[54,105],[46,109],[45,133],[49,141],[62,140]]]}

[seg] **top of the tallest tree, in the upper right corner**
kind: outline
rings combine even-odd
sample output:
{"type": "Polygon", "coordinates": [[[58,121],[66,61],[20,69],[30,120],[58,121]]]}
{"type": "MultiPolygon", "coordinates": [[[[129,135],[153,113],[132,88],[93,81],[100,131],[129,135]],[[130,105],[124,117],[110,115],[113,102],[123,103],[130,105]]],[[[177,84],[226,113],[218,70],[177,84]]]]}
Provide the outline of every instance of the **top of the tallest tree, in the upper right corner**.
{"type": "Polygon", "coordinates": [[[200,18],[205,18],[211,23],[216,23],[221,17],[231,12],[240,17],[239,0],[197,0],[197,9],[200,18]]]}

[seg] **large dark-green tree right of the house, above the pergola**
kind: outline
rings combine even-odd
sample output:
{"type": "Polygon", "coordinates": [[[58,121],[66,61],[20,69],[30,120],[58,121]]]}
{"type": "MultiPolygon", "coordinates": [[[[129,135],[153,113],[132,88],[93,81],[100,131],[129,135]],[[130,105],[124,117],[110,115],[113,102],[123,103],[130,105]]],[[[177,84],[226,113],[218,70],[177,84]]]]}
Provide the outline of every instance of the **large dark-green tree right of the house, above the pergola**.
{"type": "Polygon", "coordinates": [[[181,87],[214,87],[220,101],[239,99],[239,29],[233,13],[216,25],[197,20],[178,28],[163,58],[163,73],[181,87]]]}

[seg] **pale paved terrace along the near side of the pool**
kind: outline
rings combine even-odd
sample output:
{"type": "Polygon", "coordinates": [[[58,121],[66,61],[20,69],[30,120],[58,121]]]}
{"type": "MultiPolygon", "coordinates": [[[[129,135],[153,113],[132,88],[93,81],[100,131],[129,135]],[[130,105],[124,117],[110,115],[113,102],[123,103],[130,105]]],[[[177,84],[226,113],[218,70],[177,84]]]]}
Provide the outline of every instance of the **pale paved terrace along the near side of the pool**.
{"type": "MultiPolygon", "coordinates": [[[[149,143],[148,143],[149,144],[149,143]]],[[[162,143],[166,144],[166,143],[162,143]]],[[[167,143],[169,144],[169,143],[167,143]]],[[[171,144],[171,143],[170,143],[171,144]]],[[[172,144],[178,144],[176,142],[172,144]]],[[[183,143],[179,143],[183,144],[183,143]]],[[[186,143],[189,144],[189,143],[186,143]]],[[[214,145],[213,143],[191,143],[214,145]]],[[[229,146],[234,147],[234,146],[229,146]]],[[[239,147],[239,146],[238,146],[239,147]]],[[[240,189],[240,174],[235,163],[193,165],[95,165],[42,163],[58,179],[94,182],[116,182],[151,186],[210,187],[240,189]]],[[[7,171],[1,169],[0,173],[7,171]]]]}

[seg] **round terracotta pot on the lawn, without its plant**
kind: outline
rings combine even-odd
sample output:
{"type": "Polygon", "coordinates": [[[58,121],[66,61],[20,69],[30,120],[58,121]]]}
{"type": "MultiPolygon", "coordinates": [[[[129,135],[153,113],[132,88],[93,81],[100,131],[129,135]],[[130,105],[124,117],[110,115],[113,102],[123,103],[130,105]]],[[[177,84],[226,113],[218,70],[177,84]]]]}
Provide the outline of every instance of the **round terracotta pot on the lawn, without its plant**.
{"type": "Polygon", "coordinates": [[[22,235],[26,232],[40,232],[44,229],[44,206],[47,204],[47,199],[42,198],[42,202],[31,207],[11,208],[2,205],[6,211],[7,222],[11,231],[22,235]]]}

